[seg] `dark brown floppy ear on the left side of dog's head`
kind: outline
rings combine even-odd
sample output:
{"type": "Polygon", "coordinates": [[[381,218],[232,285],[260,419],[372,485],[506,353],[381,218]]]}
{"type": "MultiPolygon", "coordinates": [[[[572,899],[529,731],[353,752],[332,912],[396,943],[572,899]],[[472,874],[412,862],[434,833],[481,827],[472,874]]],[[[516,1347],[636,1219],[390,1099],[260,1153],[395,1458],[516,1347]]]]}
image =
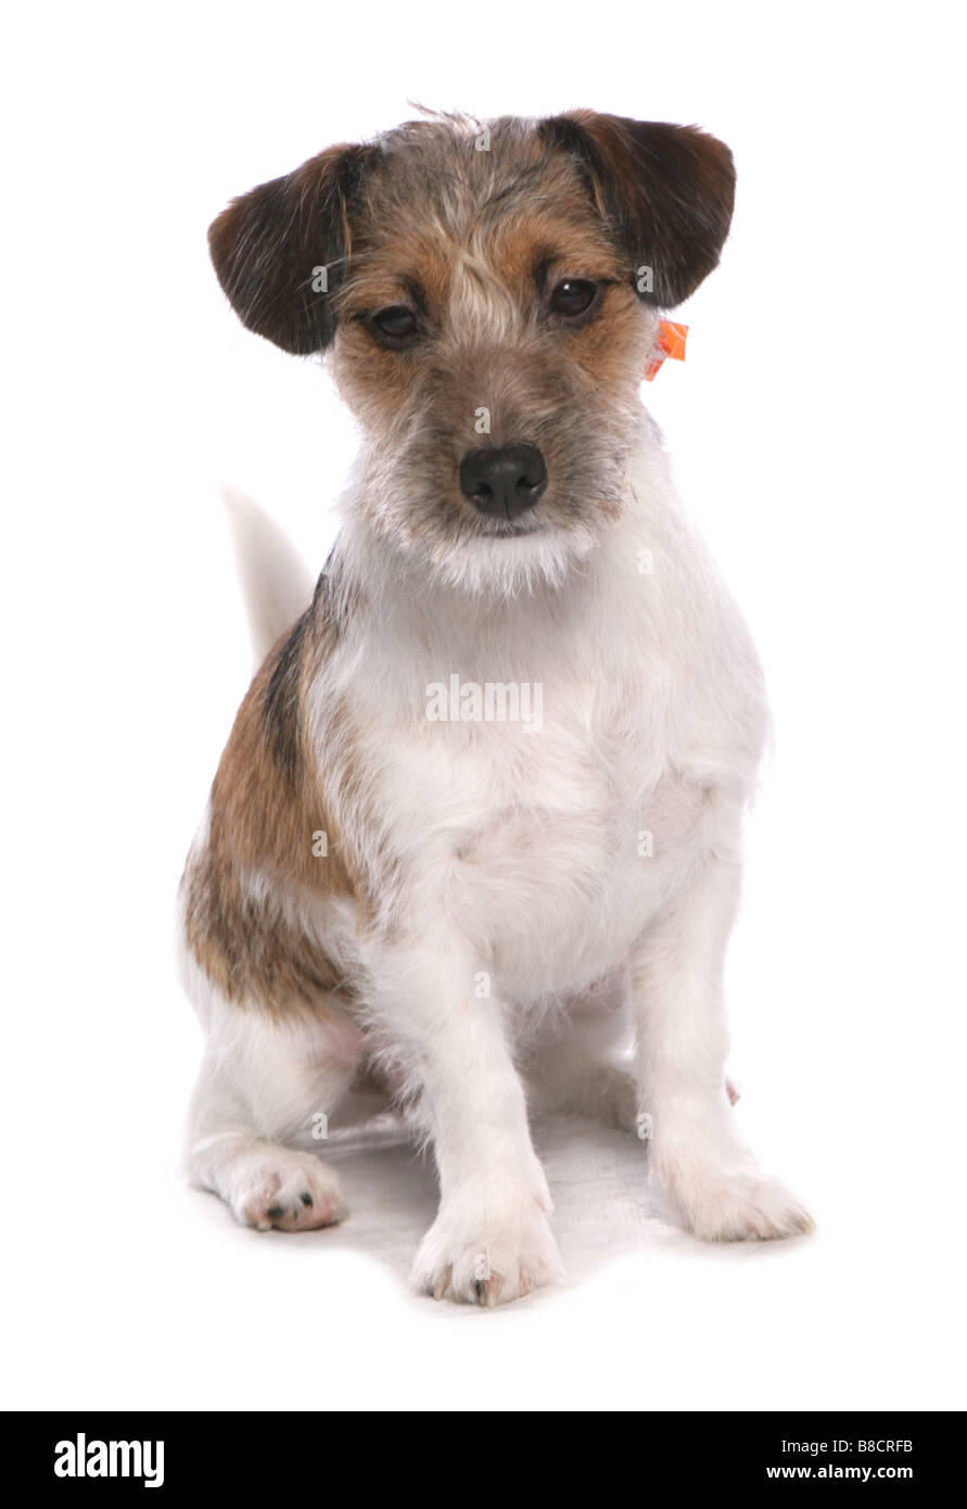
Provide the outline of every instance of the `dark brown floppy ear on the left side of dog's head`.
{"type": "Polygon", "coordinates": [[[332,294],[345,276],[351,202],[374,152],[330,146],[294,174],[232,199],[208,231],[235,314],[284,352],[308,356],[335,333],[332,294]]]}

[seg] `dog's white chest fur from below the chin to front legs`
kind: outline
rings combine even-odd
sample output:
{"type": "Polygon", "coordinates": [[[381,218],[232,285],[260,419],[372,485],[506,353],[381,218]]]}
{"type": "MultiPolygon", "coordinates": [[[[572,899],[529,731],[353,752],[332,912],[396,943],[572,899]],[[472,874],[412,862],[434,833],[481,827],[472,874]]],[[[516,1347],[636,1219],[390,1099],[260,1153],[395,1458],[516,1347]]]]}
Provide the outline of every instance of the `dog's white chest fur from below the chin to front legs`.
{"type": "Polygon", "coordinates": [[[456,931],[520,997],[620,966],[735,824],[765,732],[745,625],[653,465],[560,587],[388,576],[335,675],[403,927],[456,931]]]}

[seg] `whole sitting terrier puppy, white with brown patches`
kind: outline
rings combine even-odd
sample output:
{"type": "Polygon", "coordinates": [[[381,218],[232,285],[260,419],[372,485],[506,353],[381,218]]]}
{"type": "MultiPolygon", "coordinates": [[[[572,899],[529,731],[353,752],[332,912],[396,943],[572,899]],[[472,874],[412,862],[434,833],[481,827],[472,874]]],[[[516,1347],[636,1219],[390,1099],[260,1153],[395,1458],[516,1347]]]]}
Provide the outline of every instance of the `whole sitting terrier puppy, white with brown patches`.
{"type": "Polygon", "coordinates": [[[385,1096],[433,1150],[436,1298],[558,1277],[549,1105],[637,1130],[698,1237],[812,1225],[724,1077],[763,678],[640,400],[733,195],[695,127],[427,113],[210,231],[362,448],[311,601],[249,530],[264,661],[180,890],[187,1172],[258,1230],[338,1221],[320,1129],[385,1096]]]}

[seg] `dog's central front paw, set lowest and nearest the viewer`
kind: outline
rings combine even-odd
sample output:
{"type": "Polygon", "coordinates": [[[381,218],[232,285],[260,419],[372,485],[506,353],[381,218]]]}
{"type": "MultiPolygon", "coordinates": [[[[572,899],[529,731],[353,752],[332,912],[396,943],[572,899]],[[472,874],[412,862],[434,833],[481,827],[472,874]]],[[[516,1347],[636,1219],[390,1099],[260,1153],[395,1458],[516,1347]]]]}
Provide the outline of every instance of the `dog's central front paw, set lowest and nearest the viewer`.
{"type": "Polygon", "coordinates": [[[561,1277],[548,1216],[536,1201],[499,1218],[444,1206],[419,1243],[413,1286],[434,1299],[493,1307],[561,1277]]]}

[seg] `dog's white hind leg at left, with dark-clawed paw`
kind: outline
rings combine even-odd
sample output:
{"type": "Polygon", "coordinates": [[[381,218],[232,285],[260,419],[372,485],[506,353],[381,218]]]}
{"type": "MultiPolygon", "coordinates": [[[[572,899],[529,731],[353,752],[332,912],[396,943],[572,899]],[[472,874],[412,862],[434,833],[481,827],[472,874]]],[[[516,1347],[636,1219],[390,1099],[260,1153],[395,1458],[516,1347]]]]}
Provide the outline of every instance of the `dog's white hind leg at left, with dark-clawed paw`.
{"type": "Polygon", "coordinates": [[[186,1141],[190,1183],[259,1231],[338,1221],[339,1180],[311,1148],[356,1073],[362,1034],[335,1011],[279,1022],[219,999],[207,1019],[186,1141]]]}

